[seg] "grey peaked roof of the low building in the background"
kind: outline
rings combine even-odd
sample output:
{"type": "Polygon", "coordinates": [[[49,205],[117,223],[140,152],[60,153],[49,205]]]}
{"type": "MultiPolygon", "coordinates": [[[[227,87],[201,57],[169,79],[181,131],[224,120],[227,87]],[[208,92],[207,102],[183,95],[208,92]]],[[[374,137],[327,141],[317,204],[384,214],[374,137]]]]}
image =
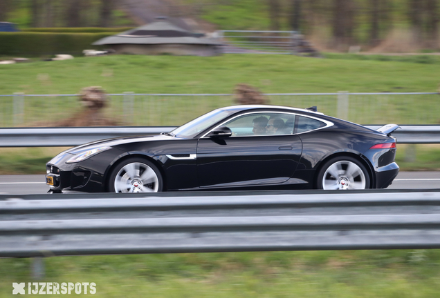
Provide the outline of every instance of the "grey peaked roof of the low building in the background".
{"type": "Polygon", "coordinates": [[[95,41],[93,46],[111,44],[162,44],[162,43],[184,43],[221,45],[216,39],[201,37],[201,34],[190,32],[173,25],[167,21],[156,21],[135,29],[115,34],[111,37],[104,37],[95,41]]]}

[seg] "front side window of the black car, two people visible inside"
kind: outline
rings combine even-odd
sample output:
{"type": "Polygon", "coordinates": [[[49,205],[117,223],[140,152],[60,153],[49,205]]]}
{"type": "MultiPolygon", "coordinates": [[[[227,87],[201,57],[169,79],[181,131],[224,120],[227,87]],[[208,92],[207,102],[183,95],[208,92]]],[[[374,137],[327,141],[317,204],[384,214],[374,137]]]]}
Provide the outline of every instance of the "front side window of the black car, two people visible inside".
{"type": "Polygon", "coordinates": [[[291,135],[295,126],[295,115],[261,112],[243,115],[224,123],[232,130],[232,137],[291,135]]]}

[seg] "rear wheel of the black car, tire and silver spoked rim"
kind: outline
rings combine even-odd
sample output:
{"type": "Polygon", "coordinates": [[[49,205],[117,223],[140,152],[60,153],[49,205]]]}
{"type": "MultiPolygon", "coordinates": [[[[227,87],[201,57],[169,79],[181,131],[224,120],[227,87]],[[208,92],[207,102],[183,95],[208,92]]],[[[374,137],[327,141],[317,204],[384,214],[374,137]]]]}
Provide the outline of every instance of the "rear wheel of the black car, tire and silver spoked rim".
{"type": "Polygon", "coordinates": [[[350,190],[370,188],[367,168],[353,157],[335,157],[322,166],[316,181],[318,189],[350,190]]]}

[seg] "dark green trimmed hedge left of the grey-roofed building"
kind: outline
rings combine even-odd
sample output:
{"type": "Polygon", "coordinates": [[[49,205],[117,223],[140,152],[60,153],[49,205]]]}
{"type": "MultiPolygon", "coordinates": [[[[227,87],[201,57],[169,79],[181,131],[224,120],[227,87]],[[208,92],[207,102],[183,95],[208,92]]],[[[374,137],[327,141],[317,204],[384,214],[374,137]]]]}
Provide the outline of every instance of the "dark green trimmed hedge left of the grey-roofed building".
{"type": "Polygon", "coordinates": [[[98,39],[113,35],[102,33],[0,32],[0,56],[40,57],[51,54],[82,54],[98,39]]]}

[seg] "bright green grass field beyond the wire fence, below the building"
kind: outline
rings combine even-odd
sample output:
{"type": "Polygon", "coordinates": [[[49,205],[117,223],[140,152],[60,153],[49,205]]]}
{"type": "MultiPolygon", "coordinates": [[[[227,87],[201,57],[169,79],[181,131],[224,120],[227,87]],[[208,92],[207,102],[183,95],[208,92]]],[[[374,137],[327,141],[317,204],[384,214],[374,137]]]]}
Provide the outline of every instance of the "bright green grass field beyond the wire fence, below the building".
{"type": "Polygon", "coordinates": [[[230,93],[237,83],[249,83],[266,93],[436,92],[440,81],[437,56],[384,58],[401,61],[378,61],[382,58],[377,56],[328,57],[332,59],[264,54],[114,55],[34,61],[1,65],[0,95],[75,94],[86,86],[102,86],[109,93],[230,93]]]}

